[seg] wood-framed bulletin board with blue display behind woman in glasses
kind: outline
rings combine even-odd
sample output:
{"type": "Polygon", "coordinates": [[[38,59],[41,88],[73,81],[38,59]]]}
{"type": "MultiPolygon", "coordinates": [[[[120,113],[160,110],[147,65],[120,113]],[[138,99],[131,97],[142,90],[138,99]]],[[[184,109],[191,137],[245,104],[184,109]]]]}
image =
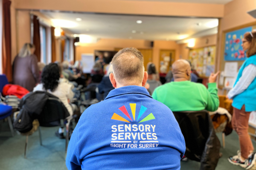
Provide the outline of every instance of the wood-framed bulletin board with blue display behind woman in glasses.
{"type": "Polygon", "coordinates": [[[244,33],[255,30],[256,22],[223,31],[220,62],[221,75],[219,76],[218,88],[233,88],[239,68],[246,59],[246,54],[241,47],[242,38],[244,33]],[[228,70],[226,67],[229,66],[231,68],[232,65],[236,65],[236,69],[233,70],[233,76],[225,75],[226,70],[228,70]]]}

